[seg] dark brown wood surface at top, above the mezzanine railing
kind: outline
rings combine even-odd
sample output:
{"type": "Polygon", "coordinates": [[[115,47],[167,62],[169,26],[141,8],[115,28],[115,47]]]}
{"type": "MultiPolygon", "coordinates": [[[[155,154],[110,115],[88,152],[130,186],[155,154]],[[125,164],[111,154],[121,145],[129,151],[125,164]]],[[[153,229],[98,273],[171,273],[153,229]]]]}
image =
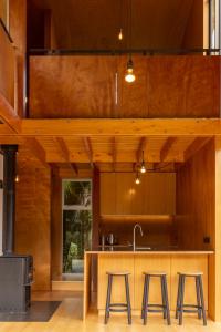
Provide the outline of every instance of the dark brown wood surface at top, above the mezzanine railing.
{"type": "MultiPolygon", "coordinates": [[[[129,0],[30,0],[51,9],[59,49],[179,49],[193,1],[131,0],[131,42],[128,41],[129,0]],[[124,40],[117,41],[119,28],[124,40]]],[[[33,8],[34,10],[34,8],[33,8]]],[[[200,24],[200,22],[199,22],[200,24]]],[[[199,31],[202,27],[198,27],[199,31]]],[[[198,46],[198,45],[196,45],[198,46]]]]}

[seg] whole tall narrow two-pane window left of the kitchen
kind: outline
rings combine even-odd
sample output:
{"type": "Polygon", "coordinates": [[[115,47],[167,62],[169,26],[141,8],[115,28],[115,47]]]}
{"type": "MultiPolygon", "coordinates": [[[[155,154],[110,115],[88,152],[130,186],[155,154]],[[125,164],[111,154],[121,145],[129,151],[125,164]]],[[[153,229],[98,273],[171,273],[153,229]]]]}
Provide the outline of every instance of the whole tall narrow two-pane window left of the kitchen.
{"type": "Polygon", "coordinates": [[[92,245],[92,181],[63,180],[63,273],[83,274],[92,245]]]}

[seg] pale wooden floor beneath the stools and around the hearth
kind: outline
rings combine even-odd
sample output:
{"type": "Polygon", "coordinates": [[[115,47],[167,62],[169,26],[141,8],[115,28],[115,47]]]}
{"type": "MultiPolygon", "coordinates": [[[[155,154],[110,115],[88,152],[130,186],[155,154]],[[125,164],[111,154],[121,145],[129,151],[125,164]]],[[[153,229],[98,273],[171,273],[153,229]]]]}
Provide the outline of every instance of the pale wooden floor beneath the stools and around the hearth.
{"type": "Polygon", "coordinates": [[[110,318],[109,323],[104,325],[103,318],[95,313],[87,317],[86,322],[82,321],[82,294],[74,292],[36,292],[33,300],[62,300],[52,319],[46,323],[0,323],[1,332],[221,332],[221,324],[211,321],[208,326],[202,326],[201,322],[194,318],[185,318],[182,326],[178,326],[172,319],[172,325],[167,326],[162,319],[150,317],[149,322],[144,326],[140,319],[134,318],[133,325],[128,326],[123,317],[110,318]]]}

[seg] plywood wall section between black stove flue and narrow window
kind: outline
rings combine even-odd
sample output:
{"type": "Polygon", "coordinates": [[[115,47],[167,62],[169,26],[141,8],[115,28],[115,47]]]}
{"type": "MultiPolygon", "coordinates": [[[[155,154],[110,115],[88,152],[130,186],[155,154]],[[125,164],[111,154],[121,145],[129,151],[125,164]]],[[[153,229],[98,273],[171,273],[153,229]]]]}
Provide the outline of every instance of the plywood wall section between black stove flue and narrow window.
{"type": "Polygon", "coordinates": [[[22,152],[18,157],[15,252],[34,259],[34,290],[51,288],[51,172],[22,152]]]}

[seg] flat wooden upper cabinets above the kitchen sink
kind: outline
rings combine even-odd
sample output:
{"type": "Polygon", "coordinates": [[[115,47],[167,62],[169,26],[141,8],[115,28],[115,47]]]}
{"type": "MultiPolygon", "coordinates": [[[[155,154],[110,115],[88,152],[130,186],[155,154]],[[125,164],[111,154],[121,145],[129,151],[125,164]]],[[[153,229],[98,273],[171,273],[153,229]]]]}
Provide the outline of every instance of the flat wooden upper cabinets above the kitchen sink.
{"type": "Polygon", "coordinates": [[[148,173],[135,184],[135,174],[101,174],[101,215],[173,215],[175,173],[148,173]]]}

